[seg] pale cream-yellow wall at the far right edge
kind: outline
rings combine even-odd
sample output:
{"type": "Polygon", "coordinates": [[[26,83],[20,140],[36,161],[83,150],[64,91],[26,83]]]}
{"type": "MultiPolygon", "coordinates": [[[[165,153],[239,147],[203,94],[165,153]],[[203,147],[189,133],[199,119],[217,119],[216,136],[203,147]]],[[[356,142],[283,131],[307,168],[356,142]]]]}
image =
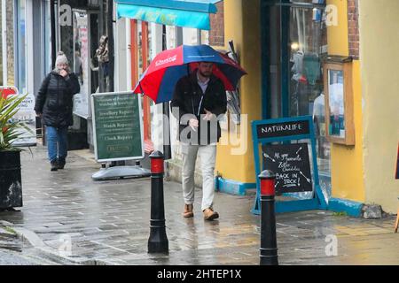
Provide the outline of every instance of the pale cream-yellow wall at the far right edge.
{"type": "Polygon", "coordinates": [[[399,142],[399,1],[360,0],[364,96],[364,184],[367,203],[395,213],[399,142]]]}

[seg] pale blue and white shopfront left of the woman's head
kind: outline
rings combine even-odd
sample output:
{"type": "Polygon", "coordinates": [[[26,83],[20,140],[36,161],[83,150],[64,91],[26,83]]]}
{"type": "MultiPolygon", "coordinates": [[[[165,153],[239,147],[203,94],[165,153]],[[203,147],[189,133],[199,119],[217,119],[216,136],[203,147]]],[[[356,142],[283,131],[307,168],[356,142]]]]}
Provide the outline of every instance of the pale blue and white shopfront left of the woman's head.
{"type": "Polygon", "coordinates": [[[35,95],[51,71],[50,1],[2,1],[3,85],[35,95]]]}

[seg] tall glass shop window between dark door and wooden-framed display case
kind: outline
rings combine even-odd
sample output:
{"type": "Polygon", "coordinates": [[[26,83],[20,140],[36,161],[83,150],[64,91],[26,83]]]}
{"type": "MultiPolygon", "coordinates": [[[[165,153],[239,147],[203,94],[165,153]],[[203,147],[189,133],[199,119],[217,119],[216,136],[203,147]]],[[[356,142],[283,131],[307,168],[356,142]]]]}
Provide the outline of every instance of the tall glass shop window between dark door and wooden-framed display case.
{"type": "MultiPolygon", "coordinates": [[[[319,4],[323,1],[292,1],[319,4]]],[[[322,58],[327,55],[327,27],[324,9],[319,6],[290,8],[289,115],[311,115],[315,122],[317,165],[321,186],[331,195],[331,143],[325,133],[325,88],[322,58]]]]}

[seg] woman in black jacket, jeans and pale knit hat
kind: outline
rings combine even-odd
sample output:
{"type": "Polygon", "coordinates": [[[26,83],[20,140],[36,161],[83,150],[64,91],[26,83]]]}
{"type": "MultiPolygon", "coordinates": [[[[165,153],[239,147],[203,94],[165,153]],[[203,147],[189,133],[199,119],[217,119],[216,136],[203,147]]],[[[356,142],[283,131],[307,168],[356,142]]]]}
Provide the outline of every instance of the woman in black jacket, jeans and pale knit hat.
{"type": "Polygon", "coordinates": [[[51,171],[64,169],[67,154],[67,130],[73,124],[73,96],[80,91],[80,84],[71,72],[68,60],[59,51],[56,68],[43,80],[36,96],[35,112],[46,126],[47,149],[51,171]]]}

